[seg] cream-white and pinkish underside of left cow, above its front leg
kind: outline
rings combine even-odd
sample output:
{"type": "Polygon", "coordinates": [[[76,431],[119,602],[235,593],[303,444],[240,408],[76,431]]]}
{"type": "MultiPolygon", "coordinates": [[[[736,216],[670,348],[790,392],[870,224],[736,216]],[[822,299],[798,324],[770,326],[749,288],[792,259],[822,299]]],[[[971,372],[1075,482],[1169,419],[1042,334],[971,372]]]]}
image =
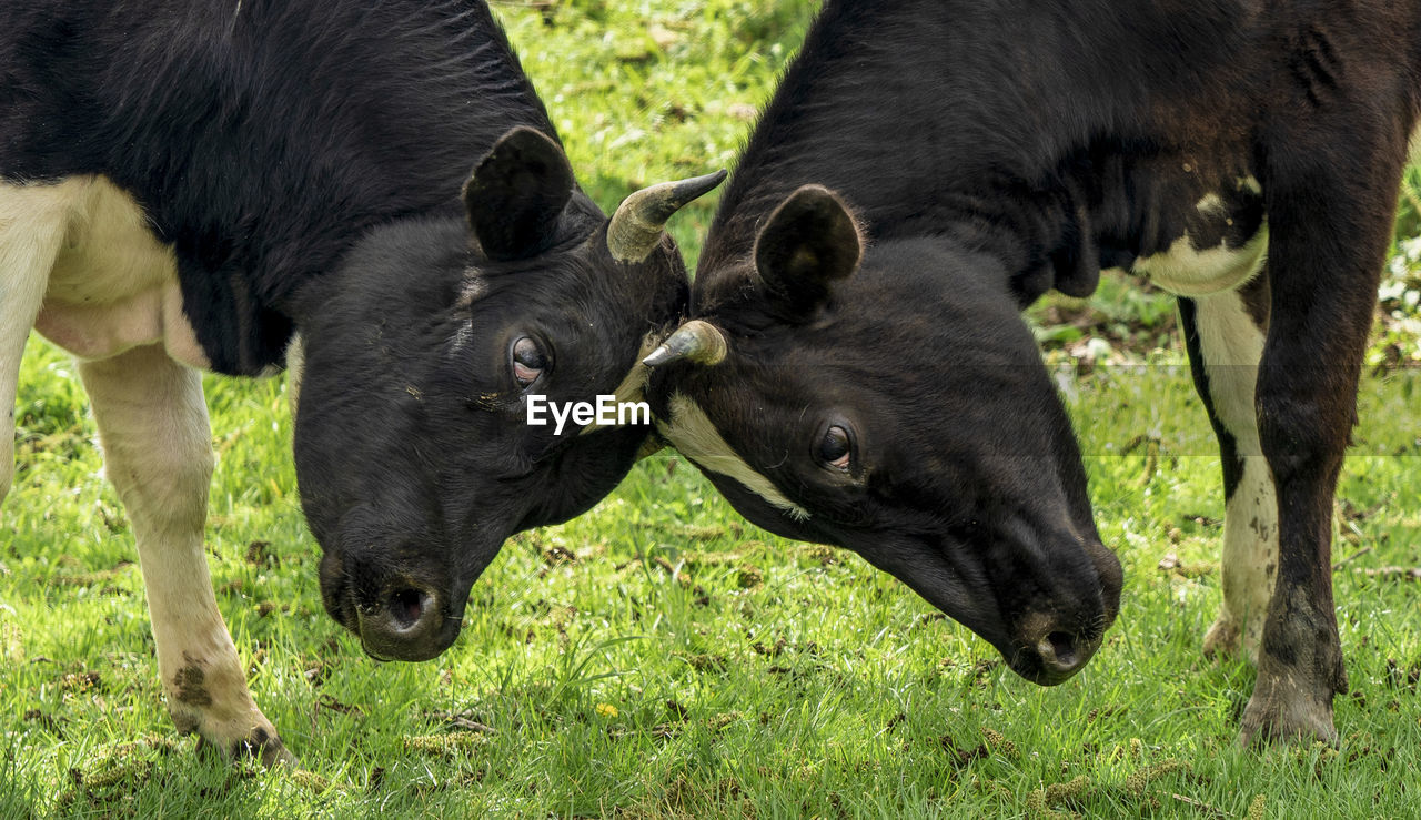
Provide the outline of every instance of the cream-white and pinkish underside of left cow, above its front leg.
{"type": "Polygon", "coordinates": [[[84,360],[162,342],[175,360],[209,367],[182,310],[173,250],[158,242],[132,196],[101,176],[3,185],[0,196],[44,198],[36,219],[65,220],[34,320],[41,335],[84,360]]]}

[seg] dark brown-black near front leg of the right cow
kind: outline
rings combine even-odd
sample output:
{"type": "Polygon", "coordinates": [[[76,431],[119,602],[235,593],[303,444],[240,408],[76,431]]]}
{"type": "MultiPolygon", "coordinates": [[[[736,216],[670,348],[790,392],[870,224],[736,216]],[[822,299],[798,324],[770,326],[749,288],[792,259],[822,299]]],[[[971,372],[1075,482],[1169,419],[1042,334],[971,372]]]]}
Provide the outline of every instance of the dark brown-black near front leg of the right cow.
{"type": "Polygon", "coordinates": [[[1296,128],[1276,124],[1266,161],[1272,315],[1258,412],[1277,492],[1279,564],[1245,743],[1334,740],[1333,695],[1347,691],[1331,591],[1333,493],[1357,419],[1405,142],[1367,131],[1374,111],[1334,108],[1296,128]]]}

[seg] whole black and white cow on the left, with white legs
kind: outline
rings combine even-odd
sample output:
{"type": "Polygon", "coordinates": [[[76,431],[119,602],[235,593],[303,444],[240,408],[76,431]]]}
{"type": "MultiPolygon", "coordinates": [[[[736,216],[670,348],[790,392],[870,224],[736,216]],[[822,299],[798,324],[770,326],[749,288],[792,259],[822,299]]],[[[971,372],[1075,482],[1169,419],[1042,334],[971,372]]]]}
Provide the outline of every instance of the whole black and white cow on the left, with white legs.
{"type": "Polygon", "coordinates": [[[522,402],[621,388],[685,307],[662,226],[720,175],[608,220],[553,134],[482,1],[0,6],[0,496],[33,325],[80,360],[182,730],[286,756],[203,560],[198,368],[304,361],[321,591],[377,657],[438,655],[509,534],[630,469],[649,428],[522,402]]]}

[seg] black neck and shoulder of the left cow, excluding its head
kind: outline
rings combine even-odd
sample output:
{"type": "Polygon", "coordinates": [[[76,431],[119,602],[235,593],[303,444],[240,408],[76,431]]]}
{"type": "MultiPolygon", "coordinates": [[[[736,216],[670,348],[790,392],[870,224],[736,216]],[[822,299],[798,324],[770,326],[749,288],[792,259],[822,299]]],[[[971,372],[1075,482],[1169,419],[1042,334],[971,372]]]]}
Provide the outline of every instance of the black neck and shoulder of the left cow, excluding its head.
{"type": "Polygon", "coordinates": [[[129,193],[219,371],[280,361],[303,283],[375,225],[455,213],[520,124],[551,132],[483,3],[0,9],[0,178],[129,193]]]}

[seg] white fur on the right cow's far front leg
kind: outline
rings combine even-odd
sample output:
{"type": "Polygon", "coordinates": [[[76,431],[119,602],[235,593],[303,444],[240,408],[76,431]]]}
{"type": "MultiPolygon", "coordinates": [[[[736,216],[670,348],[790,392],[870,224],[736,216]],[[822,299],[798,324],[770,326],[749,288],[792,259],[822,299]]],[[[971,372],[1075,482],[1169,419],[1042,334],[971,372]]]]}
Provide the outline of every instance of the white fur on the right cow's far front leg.
{"type": "Polygon", "coordinates": [[[1233,435],[1243,462],[1242,478],[1225,509],[1223,603],[1205,635],[1205,649],[1242,648],[1256,662],[1277,574],[1277,497],[1259,443],[1253,404],[1265,334],[1238,293],[1201,297],[1195,304],[1209,399],[1233,435]]]}

